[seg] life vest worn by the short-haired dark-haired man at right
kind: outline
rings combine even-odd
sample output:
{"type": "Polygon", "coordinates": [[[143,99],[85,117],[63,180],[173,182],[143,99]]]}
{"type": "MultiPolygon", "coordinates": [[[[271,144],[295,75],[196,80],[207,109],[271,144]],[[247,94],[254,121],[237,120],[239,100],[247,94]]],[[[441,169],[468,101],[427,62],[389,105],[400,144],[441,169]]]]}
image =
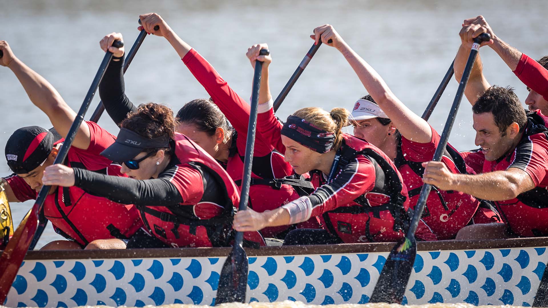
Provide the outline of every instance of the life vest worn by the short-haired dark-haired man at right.
{"type": "MultiPolygon", "coordinates": [[[[534,111],[526,111],[527,126],[522,142],[531,137],[548,138],[546,118],[534,111]],[[537,136],[535,136],[537,135],[537,136]]],[[[519,144],[518,144],[519,146],[519,144]]],[[[500,161],[485,161],[483,172],[506,170],[515,157],[515,151],[504,156],[500,161]]],[[[495,201],[495,205],[510,233],[518,236],[548,236],[548,190],[546,187],[535,187],[519,194],[515,199],[495,201]]]]}

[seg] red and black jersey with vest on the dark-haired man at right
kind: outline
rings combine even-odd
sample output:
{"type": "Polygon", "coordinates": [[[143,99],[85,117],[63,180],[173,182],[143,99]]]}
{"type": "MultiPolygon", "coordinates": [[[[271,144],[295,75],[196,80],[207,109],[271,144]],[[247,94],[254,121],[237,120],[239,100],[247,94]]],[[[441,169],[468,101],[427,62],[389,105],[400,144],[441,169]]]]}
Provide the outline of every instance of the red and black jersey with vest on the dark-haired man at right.
{"type": "Polygon", "coordinates": [[[548,129],[540,110],[527,111],[527,126],[516,148],[495,161],[484,161],[483,172],[521,169],[535,188],[515,199],[496,201],[499,213],[512,233],[519,236],[548,235],[548,129]]]}

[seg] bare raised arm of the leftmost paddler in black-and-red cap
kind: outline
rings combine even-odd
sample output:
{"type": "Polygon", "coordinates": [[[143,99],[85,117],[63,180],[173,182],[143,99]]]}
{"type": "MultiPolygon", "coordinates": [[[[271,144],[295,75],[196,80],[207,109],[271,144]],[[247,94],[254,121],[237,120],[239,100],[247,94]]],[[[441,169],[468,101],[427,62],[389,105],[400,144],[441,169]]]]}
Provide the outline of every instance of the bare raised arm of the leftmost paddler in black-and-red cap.
{"type": "MultiPolygon", "coordinates": [[[[76,112],[67,105],[59,92],[47,80],[15,57],[8,42],[0,41],[0,50],[4,54],[0,58],[0,64],[12,70],[32,103],[48,116],[61,136],[66,136],[76,118],[76,112]]],[[[89,127],[84,122],[80,125],[72,146],[85,150],[89,147],[89,143],[89,127]]]]}

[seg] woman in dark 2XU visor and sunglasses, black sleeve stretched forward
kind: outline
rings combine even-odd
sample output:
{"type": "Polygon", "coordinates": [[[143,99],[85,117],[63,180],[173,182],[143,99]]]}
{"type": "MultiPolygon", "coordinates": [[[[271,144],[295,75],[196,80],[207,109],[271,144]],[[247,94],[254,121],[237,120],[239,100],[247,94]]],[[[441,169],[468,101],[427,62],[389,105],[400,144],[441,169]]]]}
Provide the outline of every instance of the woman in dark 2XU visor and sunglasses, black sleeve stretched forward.
{"type": "MultiPolygon", "coordinates": [[[[53,165],[45,169],[43,182],[74,185],[116,202],[135,204],[154,237],[134,238],[128,248],[228,246],[238,189],[218,162],[175,132],[175,126],[168,107],[141,104],[122,121],[116,142],[101,153],[123,162],[121,171],[128,178],[53,165]]],[[[260,236],[249,236],[248,240],[264,245],[260,236]]]]}

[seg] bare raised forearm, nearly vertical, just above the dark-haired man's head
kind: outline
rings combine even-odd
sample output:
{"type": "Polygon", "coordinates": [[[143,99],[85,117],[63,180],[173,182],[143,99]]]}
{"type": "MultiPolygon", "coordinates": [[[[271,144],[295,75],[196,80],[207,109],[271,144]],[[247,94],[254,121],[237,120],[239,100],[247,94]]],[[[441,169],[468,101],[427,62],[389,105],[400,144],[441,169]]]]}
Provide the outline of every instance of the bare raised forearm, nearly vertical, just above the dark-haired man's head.
{"type": "MultiPolygon", "coordinates": [[[[455,71],[455,79],[460,83],[460,79],[463,78],[464,68],[468,57],[470,55],[470,48],[462,44],[459,47],[459,51],[455,56],[455,62],[453,65],[455,71]]],[[[478,97],[483,95],[483,93],[489,89],[491,85],[483,75],[483,63],[479,54],[476,56],[476,61],[474,62],[472,69],[470,71],[470,77],[466,84],[464,90],[464,95],[467,100],[472,104],[475,104],[478,97]]]]}

